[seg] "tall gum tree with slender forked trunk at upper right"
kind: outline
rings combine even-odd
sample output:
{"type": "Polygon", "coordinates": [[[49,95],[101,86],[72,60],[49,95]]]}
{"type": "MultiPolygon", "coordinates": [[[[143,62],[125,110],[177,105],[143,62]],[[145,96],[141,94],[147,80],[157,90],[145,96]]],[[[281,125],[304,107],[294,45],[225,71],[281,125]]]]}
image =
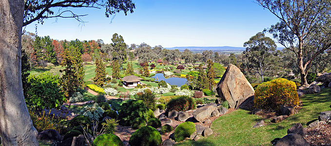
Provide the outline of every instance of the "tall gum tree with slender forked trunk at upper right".
{"type": "Polygon", "coordinates": [[[331,0],[256,0],[280,19],[269,33],[296,57],[301,85],[312,61],[331,46],[331,0]],[[310,41],[307,41],[311,39],[310,41]],[[310,48],[307,48],[307,47],[310,48]]]}

